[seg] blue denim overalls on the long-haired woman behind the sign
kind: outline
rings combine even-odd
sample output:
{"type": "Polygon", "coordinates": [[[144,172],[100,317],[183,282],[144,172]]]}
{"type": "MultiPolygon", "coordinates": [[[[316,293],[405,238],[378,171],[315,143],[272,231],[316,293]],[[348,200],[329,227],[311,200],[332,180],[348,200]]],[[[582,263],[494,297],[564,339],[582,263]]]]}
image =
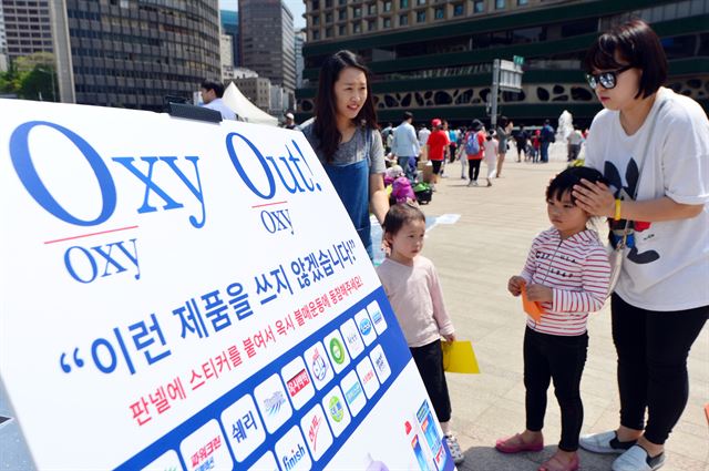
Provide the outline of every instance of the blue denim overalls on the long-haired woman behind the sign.
{"type": "Polygon", "coordinates": [[[325,165],[325,172],[350,215],[369,257],[372,258],[371,224],[369,222],[370,134],[371,131],[367,130],[367,158],[347,165],[325,165]]]}

